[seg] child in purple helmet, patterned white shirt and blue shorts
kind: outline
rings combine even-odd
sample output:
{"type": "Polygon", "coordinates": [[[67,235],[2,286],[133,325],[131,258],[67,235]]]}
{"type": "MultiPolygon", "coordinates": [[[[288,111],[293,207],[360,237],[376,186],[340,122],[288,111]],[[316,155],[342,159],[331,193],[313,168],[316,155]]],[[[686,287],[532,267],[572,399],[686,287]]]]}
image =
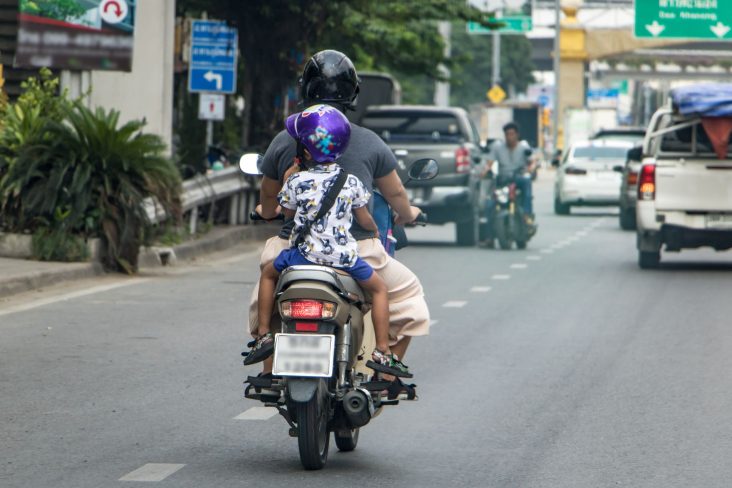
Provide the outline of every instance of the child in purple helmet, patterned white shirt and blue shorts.
{"type": "Polygon", "coordinates": [[[348,146],[351,126],[348,119],[328,105],[315,105],[291,115],[285,123],[287,132],[305,148],[304,169],[286,179],[278,195],[285,216],[295,219],[290,237],[291,248],[264,267],[259,282],[258,337],[244,364],[263,361],[274,351],[270,320],[274,292],[280,273],[295,265],[330,266],[347,272],[371,294],[371,318],[376,349],[371,367],[383,373],[411,376],[409,370],[389,350],[389,302],[387,288],[373,268],[358,256],[356,240],[350,233],[353,217],[365,230],[378,233],[367,204],[368,190],[354,175],[347,175],[331,209],[315,222],[328,189],[343,169],[337,159],[348,146]],[[299,239],[299,235],[306,230],[299,239]]]}

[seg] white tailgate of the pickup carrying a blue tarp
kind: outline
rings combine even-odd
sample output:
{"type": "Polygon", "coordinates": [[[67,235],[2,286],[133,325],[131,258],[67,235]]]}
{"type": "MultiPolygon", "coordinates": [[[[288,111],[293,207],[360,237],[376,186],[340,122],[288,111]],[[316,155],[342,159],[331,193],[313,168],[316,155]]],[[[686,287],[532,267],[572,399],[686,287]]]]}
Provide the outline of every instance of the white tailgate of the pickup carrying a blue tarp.
{"type": "Polygon", "coordinates": [[[656,208],[732,212],[732,161],[659,160],[656,208]]]}

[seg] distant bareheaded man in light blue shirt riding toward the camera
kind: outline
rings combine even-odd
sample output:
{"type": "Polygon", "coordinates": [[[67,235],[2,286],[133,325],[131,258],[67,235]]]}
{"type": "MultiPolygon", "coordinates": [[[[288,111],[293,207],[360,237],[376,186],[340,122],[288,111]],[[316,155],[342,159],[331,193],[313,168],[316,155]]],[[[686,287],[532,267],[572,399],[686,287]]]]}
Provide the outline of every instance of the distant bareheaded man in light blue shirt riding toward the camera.
{"type": "MultiPolygon", "coordinates": [[[[526,223],[533,226],[535,219],[531,172],[536,166],[536,157],[531,150],[531,146],[526,141],[521,140],[518,124],[509,122],[504,125],[503,135],[505,141],[495,141],[491,144],[481,178],[486,178],[491,173],[494,161],[498,162],[498,174],[492,176],[497,178],[499,184],[512,178],[516,181],[516,187],[521,192],[521,208],[524,211],[526,223]]],[[[493,213],[491,211],[493,204],[494,202],[489,199],[486,206],[489,229],[492,229],[490,218],[493,213]]]]}

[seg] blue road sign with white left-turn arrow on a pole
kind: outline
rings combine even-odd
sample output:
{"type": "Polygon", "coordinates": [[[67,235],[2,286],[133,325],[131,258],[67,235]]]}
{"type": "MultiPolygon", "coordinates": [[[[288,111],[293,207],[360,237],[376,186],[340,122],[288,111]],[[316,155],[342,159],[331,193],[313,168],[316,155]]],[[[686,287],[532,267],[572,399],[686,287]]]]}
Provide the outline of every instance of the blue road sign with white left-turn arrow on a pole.
{"type": "Polygon", "coordinates": [[[225,22],[194,20],[188,91],[234,93],[238,33],[225,22]]]}

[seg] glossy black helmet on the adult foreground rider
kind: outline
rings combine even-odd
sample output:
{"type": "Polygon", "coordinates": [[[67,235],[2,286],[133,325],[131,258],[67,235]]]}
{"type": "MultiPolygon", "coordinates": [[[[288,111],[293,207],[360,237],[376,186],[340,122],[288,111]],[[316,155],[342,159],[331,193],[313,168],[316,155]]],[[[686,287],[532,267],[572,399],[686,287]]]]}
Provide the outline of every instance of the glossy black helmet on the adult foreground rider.
{"type": "Polygon", "coordinates": [[[356,68],[348,56],[328,49],[308,60],[300,77],[300,100],[305,104],[339,103],[353,109],[358,96],[356,68]]]}

